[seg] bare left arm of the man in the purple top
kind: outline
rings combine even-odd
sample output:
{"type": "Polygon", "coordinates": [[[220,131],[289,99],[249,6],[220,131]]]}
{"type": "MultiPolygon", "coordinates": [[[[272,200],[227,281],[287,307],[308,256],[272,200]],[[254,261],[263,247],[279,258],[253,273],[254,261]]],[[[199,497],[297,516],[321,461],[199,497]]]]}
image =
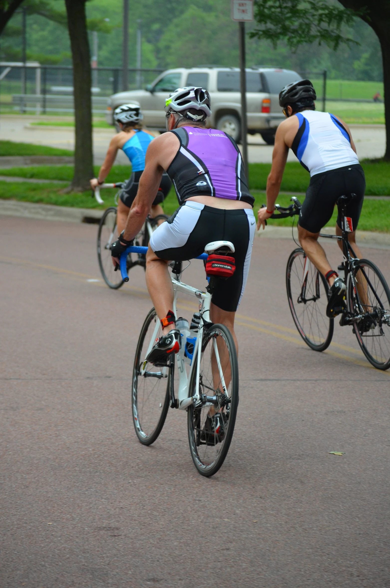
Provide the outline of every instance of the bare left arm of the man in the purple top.
{"type": "Polygon", "coordinates": [[[130,241],[137,235],[158,192],[164,169],[168,169],[179,149],[179,139],[173,133],[160,135],[149,143],[145,169],[140,178],[137,196],[131,205],[124,229],[124,239],[130,241]]]}

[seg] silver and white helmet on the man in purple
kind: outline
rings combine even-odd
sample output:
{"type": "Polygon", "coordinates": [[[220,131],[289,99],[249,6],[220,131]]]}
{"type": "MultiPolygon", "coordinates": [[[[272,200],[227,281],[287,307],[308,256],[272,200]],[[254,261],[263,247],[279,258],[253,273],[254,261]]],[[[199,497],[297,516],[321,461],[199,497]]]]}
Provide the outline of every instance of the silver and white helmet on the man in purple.
{"type": "Polygon", "coordinates": [[[207,116],[211,116],[210,94],[204,88],[196,86],[177,88],[170,93],[165,103],[165,111],[167,114],[177,112],[191,121],[203,121],[207,116]],[[190,109],[200,111],[199,115],[189,112],[190,109]]]}

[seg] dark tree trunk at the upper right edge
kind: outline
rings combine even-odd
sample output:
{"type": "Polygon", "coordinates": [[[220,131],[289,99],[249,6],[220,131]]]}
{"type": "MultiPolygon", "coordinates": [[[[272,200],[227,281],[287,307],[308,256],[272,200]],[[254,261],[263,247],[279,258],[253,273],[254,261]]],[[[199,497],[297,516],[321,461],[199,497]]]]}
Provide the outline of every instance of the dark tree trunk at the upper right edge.
{"type": "Polygon", "coordinates": [[[361,16],[378,36],[382,48],[384,68],[384,98],[386,123],[386,151],[384,159],[390,161],[390,2],[389,0],[339,0],[345,8],[364,10],[361,16]]]}

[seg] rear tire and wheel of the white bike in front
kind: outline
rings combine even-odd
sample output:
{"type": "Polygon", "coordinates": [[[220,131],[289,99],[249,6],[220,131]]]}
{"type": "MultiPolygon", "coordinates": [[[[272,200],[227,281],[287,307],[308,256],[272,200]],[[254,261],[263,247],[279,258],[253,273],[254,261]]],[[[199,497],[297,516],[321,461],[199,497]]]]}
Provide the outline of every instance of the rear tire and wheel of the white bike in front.
{"type": "MultiPolygon", "coordinates": [[[[226,459],[227,452],[229,451],[230,443],[232,442],[233,432],[234,432],[234,425],[236,423],[236,416],[237,416],[237,407],[239,404],[239,368],[238,368],[238,361],[237,361],[237,353],[236,353],[236,346],[234,345],[234,340],[232,337],[232,333],[230,333],[229,329],[224,325],[213,325],[209,329],[206,330],[203,334],[203,342],[201,346],[201,363],[200,363],[200,383],[199,388],[201,393],[204,391],[213,390],[213,394],[216,395],[218,389],[221,389],[223,386],[221,384],[221,378],[217,375],[217,380],[215,376],[215,369],[214,373],[212,372],[211,362],[213,361],[213,349],[214,349],[214,340],[218,345],[218,341],[216,340],[217,337],[221,337],[224,341],[224,345],[226,345],[227,351],[229,352],[229,367],[230,367],[230,384],[227,386],[227,395],[229,397],[229,405],[226,406],[225,412],[223,412],[223,406],[217,405],[217,411],[223,415],[223,437],[222,439],[217,440],[216,436],[213,436],[214,439],[211,440],[210,436],[207,436],[206,433],[206,441],[203,442],[201,440],[202,435],[204,435],[203,423],[206,422],[206,417],[209,412],[211,405],[209,403],[202,404],[200,406],[190,405],[188,408],[188,418],[187,418],[187,425],[188,425],[188,435],[189,435],[189,444],[190,444],[190,452],[191,457],[193,459],[194,465],[198,472],[202,476],[210,477],[213,476],[222,466],[224,460],[226,459]],[[211,346],[209,346],[209,343],[211,346]],[[209,358],[209,349],[211,348],[210,353],[210,360],[209,358]],[[204,361],[206,357],[206,361],[204,361]],[[206,382],[207,380],[207,382],[206,382]],[[217,387],[216,387],[217,386],[217,387]],[[203,449],[202,449],[203,448],[203,449]]],[[[220,341],[222,341],[220,339],[220,341]]],[[[223,348],[223,343],[221,342],[219,347],[217,348],[219,353],[223,348]]],[[[193,362],[194,368],[191,373],[190,379],[190,386],[189,386],[189,396],[194,396],[196,394],[196,379],[197,379],[197,356],[199,353],[199,348],[197,353],[194,354],[193,362]]],[[[221,358],[221,355],[220,355],[221,358]]],[[[215,361],[215,352],[214,352],[214,361],[215,361]]],[[[223,362],[223,358],[220,359],[220,362],[223,362]]],[[[228,375],[227,372],[227,361],[224,364],[226,368],[223,368],[223,375],[228,375]]],[[[225,377],[225,376],[224,376],[225,377]]],[[[219,437],[219,436],[218,436],[219,437]]]]}

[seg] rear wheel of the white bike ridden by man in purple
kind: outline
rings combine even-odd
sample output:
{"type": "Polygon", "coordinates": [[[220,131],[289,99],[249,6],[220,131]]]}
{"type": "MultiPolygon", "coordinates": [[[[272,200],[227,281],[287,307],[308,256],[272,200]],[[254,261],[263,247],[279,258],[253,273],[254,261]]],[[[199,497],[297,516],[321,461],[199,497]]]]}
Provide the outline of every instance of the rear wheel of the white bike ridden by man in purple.
{"type": "Polygon", "coordinates": [[[199,391],[201,400],[188,409],[190,451],[198,472],[209,477],[220,469],[227,456],[239,404],[239,368],[229,329],[224,325],[213,325],[208,329],[193,362],[189,396],[199,391]],[[213,417],[218,419],[219,428],[210,429],[213,417]]]}

